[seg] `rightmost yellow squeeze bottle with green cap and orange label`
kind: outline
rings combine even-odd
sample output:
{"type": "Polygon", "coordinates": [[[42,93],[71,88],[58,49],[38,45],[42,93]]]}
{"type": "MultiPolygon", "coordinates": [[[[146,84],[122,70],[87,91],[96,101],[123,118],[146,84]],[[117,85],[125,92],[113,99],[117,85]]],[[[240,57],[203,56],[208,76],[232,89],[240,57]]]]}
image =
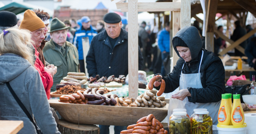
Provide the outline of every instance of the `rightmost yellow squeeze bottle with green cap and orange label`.
{"type": "Polygon", "coordinates": [[[233,94],[233,107],[231,110],[231,122],[235,125],[244,125],[245,115],[241,106],[240,94],[233,94]]]}

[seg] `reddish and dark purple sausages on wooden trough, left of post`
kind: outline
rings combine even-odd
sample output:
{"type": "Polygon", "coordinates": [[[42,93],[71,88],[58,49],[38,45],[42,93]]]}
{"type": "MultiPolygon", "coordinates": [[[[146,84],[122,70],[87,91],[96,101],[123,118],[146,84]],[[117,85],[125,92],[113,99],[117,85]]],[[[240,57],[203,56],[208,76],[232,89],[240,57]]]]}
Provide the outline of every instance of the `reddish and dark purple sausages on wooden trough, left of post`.
{"type": "Polygon", "coordinates": [[[59,102],[72,104],[108,105],[115,106],[118,102],[116,94],[102,95],[104,90],[98,88],[87,88],[85,91],[78,90],[72,95],[60,96],[59,102]]]}

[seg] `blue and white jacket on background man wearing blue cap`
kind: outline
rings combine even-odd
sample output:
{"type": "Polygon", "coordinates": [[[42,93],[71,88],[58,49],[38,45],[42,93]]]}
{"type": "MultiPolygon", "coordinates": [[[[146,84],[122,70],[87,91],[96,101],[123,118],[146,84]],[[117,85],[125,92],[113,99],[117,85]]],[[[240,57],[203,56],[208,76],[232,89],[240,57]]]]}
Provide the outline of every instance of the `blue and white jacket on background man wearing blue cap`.
{"type": "Polygon", "coordinates": [[[82,27],[83,26],[81,26],[81,28],[75,32],[75,37],[73,41],[73,44],[76,46],[78,50],[79,60],[84,60],[82,38],[88,37],[91,45],[92,38],[97,35],[97,31],[94,27],[90,26],[91,30],[82,30],[82,27]]]}

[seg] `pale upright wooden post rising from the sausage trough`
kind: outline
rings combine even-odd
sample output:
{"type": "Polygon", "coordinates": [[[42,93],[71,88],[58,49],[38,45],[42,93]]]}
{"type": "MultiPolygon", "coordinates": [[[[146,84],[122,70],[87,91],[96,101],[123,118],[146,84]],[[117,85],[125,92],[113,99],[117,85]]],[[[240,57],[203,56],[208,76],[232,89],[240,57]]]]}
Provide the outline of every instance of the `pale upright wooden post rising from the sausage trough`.
{"type": "Polygon", "coordinates": [[[138,0],[128,2],[128,74],[129,97],[138,96],[138,0]]]}

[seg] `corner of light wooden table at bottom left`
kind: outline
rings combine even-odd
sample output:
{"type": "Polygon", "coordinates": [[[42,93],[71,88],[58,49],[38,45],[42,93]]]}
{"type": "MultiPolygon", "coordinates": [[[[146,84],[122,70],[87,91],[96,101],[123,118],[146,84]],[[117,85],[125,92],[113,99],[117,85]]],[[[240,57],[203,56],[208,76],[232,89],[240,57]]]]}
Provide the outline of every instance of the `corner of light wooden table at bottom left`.
{"type": "Polygon", "coordinates": [[[0,134],[17,134],[23,128],[23,121],[0,120],[0,134]]]}

